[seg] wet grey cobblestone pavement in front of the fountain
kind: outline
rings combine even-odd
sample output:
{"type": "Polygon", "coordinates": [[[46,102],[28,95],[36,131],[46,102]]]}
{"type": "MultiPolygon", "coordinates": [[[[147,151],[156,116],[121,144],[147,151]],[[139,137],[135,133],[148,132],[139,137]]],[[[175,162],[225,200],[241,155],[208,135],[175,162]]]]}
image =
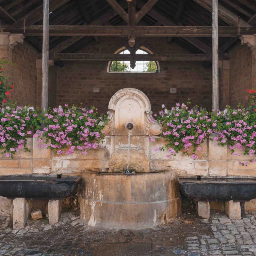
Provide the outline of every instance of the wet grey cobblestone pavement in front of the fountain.
{"type": "Polygon", "coordinates": [[[224,213],[212,216],[210,221],[180,218],[139,231],[88,228],[71,212],[62,213],[52,226],[47,219],[29,220],[25,229],[12,230],[1,216],[0,255],[256,255],[256,212],[232,221],[224,213]]]}

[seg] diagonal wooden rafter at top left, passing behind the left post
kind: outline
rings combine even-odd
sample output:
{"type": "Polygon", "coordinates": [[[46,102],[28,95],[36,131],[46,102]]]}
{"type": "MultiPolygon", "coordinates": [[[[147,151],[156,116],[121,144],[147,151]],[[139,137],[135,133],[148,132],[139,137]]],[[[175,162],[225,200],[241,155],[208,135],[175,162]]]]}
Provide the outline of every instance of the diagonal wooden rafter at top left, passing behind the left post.
{"type": "MultiPolygon", "coordinates": [[[[63,4],[66,4],[70,0],[50,0],[50,12],[53,12],[63,4]]],[[[43,18],[43,5],[38,6],[25,16],[26,26],[36,23],[43,18]]],[[[24,18],[20,18],[13,23],[14,26],[23,26],[24,18]]]]}

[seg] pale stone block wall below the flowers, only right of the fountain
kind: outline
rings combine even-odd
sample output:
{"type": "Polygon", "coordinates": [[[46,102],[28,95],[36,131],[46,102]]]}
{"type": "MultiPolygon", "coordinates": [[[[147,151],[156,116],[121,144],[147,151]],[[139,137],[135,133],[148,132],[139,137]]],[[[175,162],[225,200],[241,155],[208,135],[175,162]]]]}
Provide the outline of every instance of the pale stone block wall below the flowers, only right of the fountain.
{"type": "MultiPolygon", "coordinates": [[[[156,137],[157,138],[157,137],[156,137]]],[[[250,163],[252,156],[244,155],[242,150],[238,156],[233,156],[227,146],[218,145],[214,141],[214,135],[209,141],[204,141],[202,150],[197,153],[198,160],[193,160],[183,152],[178,152],[176,156],[166,158],[168,151],[155,151],[165,144],[165,140],[160,138],[155,142],[150,142],[150,170],[161,171],[174,169],[177,175],[202,175],[202,176],[253,176],[256,177],[256,163],[250,163]],[[249,162],[248,166],[242,166],[239,162],[249,162]]]]}

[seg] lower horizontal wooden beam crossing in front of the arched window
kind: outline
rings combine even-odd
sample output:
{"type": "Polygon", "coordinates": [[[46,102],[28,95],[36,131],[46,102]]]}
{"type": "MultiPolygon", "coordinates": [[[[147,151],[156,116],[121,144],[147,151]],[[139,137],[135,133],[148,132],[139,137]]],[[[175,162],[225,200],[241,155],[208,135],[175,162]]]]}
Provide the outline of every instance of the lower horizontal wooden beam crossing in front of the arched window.
{"type": "MultiPolygon", "coordinates": [[[[220,59],[226,56],[220,56],[220,59]]],[[[149,60],[149,61],[209,61],[212,59],[211,54],[94,54],[94,53],[58,53],[54,56],[55,60],[97,60],[97,61],[114,61],[114,60],[149,60]]]]}

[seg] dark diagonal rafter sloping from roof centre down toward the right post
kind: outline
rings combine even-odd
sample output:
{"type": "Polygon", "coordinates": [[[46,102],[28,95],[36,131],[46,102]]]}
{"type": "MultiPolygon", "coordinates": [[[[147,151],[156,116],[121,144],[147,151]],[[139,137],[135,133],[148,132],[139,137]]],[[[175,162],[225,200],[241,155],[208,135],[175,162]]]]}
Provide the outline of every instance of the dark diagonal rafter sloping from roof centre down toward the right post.
{"type": "MultiPolygon", "coordinates": [[[[143,4],[141,2],[137,2],[137,6],[139,8],[143,7],[143,4]]],[[[158,20],[158,22],[161,22],[164,26],[176,26],[174,22],[154,10],[153,8],[149,10],[148,15],[150,15],[152,18],[158,20]]],[[[196,48],[201,50],[204,53],[210,53],[212,51],[212,48],[205,44],[204,42],[200,41],[196,37],[189,37],[189,38],[184,38],[187,42],[190,44],[194,45],[196,48]]]]}

